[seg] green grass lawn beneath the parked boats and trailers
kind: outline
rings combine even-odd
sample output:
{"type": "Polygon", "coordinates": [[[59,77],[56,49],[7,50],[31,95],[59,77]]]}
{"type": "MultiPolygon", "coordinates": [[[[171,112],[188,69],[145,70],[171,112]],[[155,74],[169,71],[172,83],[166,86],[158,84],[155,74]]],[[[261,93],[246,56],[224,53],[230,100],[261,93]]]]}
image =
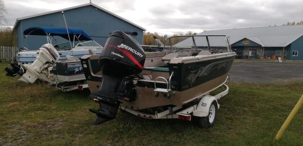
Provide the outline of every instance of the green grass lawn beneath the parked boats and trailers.
{"type": "MultiPolygon", "coordinates": [[[[88,91],[17,82],[0,63],[0,145],[271,145],[303,94],[303,81],[288,85],[228,83],[215,126],[193,121],[149,120],[119,112],[94,126],[98,108],[88,91]]],[[[303,109],[274,145],[303,145],[303,109]]]]}

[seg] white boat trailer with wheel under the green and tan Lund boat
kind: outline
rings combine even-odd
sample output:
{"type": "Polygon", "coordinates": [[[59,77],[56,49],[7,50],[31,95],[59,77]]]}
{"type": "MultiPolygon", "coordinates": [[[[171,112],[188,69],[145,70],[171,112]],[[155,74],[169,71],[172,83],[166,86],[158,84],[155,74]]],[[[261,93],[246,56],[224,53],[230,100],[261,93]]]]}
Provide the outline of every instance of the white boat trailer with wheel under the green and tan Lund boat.
{"type": "MultiPolygon", "coordinates": [[[[218,86],[218,88],[222,87],[225,88],[223,92],[218,93],[215,96],[211,96],[208,93],[205,93],[203,95],[200,95],[198,98],[194,100],[200,100],[198,104],[191,105],[190,107],[183,109],[182,106],[175,106],[173,108],[169,108],[163,112],[157,112],[155,111],[155,114],[147,114],[143,112],[139,112],[134,109],[129,109],[125,106],[119,106],[121,110],[124,110],[126,112],[129,112],[133,115],[136,115],[138,117],[142,118],[148,118],[148,119],[169,119],[169,118],[179,118],[182,120],[191,121],[191,116],[199,117],[199,123],[203,128],[210,128],[214,125],[215,119],[216,119],[216,112],[217,109],[220,108],[220,105],[218,104],[218,99],[228,94],[229,87],[225,84],[229,80],[229,76],[227,76],[225,82],[218,86]],[[180,111],[181,110],[181,111],[180,111]],[[177,112],[178,111],[178,112],[177,112]],[[191,115],[192,113],[192,115],[191,115]]],[[[216,89],[218,89],[216,88],[216,89]]],[[[215,89],[213,89],[215,90],[215,89]]],[[[212,90],[212,91],[213,91],[212,90]]],[[[192,100],[192,101],[194,101],[192,100]]],[[[95,103],[98,103],[98,99],[94,99],[95,103]]],[[[187,102],[190,103],[191,101],[187,102]]],[[[186,104],[185,104],[186,105],[186,104]]]]}

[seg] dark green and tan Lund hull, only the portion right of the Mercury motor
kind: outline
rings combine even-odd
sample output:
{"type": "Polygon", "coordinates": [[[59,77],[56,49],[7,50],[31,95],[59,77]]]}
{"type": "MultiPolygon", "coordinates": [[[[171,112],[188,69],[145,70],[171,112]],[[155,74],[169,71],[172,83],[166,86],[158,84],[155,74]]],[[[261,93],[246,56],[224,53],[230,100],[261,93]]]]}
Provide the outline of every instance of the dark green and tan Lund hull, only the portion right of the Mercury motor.
{"type": "MultiPolygon", "coordinates": [[[[121,105],[139,110],[164,105],[181,106],[186,104],[222,86],[234,59],[235,55],[231,55],[188,63],[169,63],[167,76],[174,72],[171,86],[175,87],[171,97],[168,98],[161,93],[156,97],[153,80],[138,80],[136,86],[138,99],[134,102],[123,102],[121,105]]],[[[168,79],[167,76],[166,79],[168,79]]],[[[161,81],[156,82],[156,86],[166,89],[166,83],[161,83],[161,81]]]]}

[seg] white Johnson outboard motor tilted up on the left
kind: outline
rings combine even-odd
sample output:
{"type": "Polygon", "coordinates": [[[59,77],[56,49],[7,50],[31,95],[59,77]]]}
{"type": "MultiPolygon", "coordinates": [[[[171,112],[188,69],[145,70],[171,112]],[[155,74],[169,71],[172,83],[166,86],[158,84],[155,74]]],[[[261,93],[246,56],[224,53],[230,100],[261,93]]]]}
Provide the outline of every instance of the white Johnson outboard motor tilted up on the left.
{"type": "Polygon", "coordinates": [[[20,68],[19,81],[25,83],[34,83],[39,74],[43,71],[48,63],[56,64],[59,60],[59,53],[52,44],[44,44],[37,51],[36,60],[31,64],[22,64],[20,68]]]}

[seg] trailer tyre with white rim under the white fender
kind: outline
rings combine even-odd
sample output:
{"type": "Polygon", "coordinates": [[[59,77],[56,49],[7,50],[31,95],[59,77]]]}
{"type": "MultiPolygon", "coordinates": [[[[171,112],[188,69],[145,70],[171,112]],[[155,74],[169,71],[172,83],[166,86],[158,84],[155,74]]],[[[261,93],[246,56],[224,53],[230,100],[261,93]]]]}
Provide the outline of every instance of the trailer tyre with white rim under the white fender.
{"type": "Polygon", "coordinates": [[[211,105],[209,107],[208,116],[206,117],[199,117],[199,124],[203,128],[211,128],[214,126],[216,118],[217,118],[217,102],[213,101],[211,102],[211,105]]]}

